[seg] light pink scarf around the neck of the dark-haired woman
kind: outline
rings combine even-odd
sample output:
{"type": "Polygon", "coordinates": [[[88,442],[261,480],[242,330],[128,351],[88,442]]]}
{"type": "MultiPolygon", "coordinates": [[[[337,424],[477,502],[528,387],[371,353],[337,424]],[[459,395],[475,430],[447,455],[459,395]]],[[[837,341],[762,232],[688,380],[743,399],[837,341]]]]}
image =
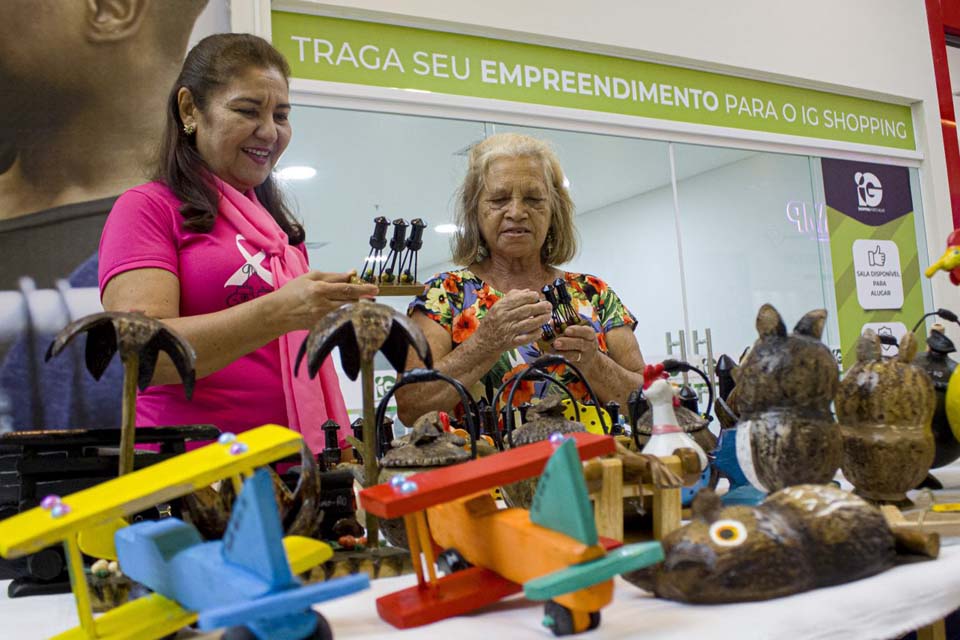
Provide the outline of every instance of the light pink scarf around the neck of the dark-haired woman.
{"type": "MultiPolygon", "coordinates": [[[[290,246],[287,234],[270,212],[263,208],[252,189],[242,194],[219,178],[214,179],[220,192],[219,215],[229,221],[249,244],[267,255],[274,289],[310,270],[304,252],[290,246]]],[[[299,376],[293,374],[297,351],[306,337],[306,331],[291,331],[280,336],[280,375],[287,401],[289,427],[301,433],[310,450],[318,454],[324,446],[321,425],[327,419],[340,425],[337,438],[343,448],[346,445],[343,429],[349,424],[349,419],[340,392],[340,381],[329,357],[314,380],[307,376],[306,367],[303,367],[299,376]]]]}

